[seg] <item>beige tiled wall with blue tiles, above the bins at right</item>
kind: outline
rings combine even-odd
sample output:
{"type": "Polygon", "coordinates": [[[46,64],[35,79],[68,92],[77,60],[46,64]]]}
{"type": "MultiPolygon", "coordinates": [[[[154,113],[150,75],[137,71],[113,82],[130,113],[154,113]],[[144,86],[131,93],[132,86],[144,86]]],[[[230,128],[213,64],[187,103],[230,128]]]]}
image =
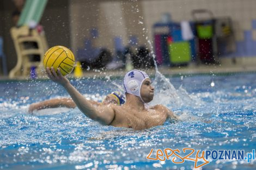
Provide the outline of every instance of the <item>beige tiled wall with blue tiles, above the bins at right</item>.
{"type": "MultiPolygon", "coordinates": [[[[170,0],[142,1],[145,25],[151,33],[154,22],[160,20],[163,12],[170,12],[174,21],[193,21],[191,11],[209,9],[214,17],[230,17],[236,41],[235,56],[256,56],[256,11],[254,0],[170,0]]],[[[151,37],[152,34],[149,34],[151,37]]],[[[150,38],[152,39],[152,37],[150,38]]]]}

